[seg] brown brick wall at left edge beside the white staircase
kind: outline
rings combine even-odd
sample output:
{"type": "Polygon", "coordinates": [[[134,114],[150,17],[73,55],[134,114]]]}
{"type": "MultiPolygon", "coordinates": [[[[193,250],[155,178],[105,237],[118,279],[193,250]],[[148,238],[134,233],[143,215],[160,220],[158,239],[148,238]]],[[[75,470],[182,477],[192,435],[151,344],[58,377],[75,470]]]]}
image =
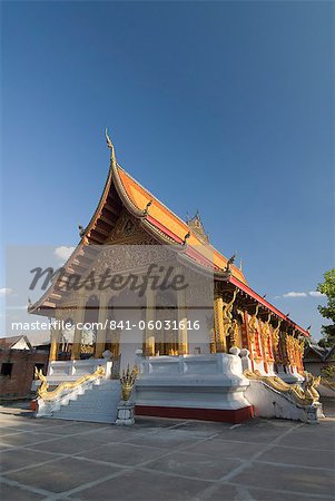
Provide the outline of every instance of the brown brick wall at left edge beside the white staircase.
{"type": "Polygon", "coordinates": [[[30,394],[35,366],[43,364],[46,374],[49,353],[37,350],[0,350],[0,399],[26,397],[30,394]],[[12,364],[11,375],[6,372],[3,364],[12,364]]]}

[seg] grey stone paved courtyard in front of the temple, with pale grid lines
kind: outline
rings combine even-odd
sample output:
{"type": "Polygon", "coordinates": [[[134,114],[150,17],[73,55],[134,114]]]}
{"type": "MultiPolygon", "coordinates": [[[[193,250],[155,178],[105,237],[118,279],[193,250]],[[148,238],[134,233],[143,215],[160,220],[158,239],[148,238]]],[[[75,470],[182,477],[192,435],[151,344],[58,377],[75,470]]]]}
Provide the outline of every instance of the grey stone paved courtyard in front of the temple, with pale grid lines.
{"type": "Polygon", "coordinates": [[[335,419],[35,420],[0,407],[1,500],[334,500],[335,419]]]}

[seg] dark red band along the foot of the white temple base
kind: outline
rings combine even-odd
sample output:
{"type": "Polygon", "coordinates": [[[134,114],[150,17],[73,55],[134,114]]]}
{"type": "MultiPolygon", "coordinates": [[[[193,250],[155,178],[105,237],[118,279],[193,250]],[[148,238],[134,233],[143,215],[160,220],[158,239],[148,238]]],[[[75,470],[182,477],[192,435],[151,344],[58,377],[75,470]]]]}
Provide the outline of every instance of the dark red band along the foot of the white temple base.
{"type": "Polygon", "coordinates": [[[254,406],[243,409],[193,409],[162,407],[136,405],[136,415],[151,415],[156,418],[175,418],[181,420],[217,421],[225,423],[242,423],[254,418],[254,406]]]}

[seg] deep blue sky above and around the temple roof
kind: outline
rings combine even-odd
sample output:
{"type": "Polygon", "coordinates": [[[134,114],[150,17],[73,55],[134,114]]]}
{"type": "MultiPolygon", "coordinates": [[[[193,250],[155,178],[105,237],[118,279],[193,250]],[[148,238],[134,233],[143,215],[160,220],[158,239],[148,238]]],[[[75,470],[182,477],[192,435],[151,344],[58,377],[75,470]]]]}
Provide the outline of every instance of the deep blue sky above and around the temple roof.
{"type": "Polygon", "coordinates": [[[333,266],[331,2],[3,2],[1,28],[4,245],[77,243],[109,126],[124,168],[181,217],[199,209],[250,286],[318,337],[323,299],[308,292],[333,266]]]}

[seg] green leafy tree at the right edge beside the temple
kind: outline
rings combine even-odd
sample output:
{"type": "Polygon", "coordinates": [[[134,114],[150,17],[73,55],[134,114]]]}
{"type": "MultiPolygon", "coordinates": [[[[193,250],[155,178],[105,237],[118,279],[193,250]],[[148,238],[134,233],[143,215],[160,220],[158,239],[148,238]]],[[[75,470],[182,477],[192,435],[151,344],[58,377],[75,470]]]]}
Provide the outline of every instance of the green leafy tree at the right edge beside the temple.
{"type": "Polygon", "coordinates": [[[329,320],[329,325],[323,325],[323,338],[321,346],[332,346],[335,343],[335,268],[324,274],[324,282],[318,284],[316,291],[327,296],[326,306],[318,306],[318,311],[324,318],[329,320]]]}

